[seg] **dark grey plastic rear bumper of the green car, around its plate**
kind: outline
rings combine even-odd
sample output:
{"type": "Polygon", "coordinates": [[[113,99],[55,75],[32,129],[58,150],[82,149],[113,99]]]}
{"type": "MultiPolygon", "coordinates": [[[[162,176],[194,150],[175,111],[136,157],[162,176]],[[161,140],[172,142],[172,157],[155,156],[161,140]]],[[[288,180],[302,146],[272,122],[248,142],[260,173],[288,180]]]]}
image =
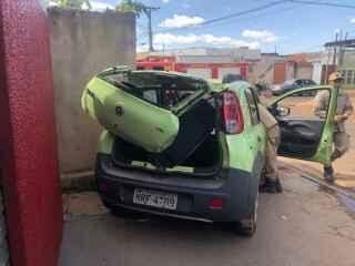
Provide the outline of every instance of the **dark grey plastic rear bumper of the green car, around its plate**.
{"type": "Polygon", "coordinates": [[[100,196],[111,207],[211,222],[232,222],[245,217],[252,211],[255,187],[257,190],[256,177],[241,170],[221,171],[215,178],[163,175],[118,167],[111,156],[104,154],[97,157],[95,176],[100,196]],[[134,204],[134,188],[178,194],[176,209],[134,204]],[[214,198],[223,201],[222,208],[210,207],[214,198]]]}

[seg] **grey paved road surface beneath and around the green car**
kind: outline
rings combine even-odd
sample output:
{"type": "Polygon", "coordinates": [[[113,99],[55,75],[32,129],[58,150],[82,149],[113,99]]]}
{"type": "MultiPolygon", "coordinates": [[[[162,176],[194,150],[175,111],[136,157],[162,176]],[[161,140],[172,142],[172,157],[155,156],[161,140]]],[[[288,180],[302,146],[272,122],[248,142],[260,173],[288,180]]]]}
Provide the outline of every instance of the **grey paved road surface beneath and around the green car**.
{"type": "Polygon", "coordinates": [[[74,216],[65,223],[60,265],[354,266],[351,208],[297,173],[282,176],[282,195],[262,195],[253,238],[196,222],[74,216]]]}

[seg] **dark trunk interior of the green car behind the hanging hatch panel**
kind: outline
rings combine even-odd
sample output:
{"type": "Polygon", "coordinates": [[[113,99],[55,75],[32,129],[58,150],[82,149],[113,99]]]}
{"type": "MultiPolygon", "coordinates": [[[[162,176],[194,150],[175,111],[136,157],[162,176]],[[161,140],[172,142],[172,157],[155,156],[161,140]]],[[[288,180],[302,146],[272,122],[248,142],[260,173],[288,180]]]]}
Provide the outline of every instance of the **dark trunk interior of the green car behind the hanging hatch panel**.
{"type": "Polygon", "coordinates": [[[216,98],[206,93],[210,86],[205,81],[150,71],[119,73],[104,79],[141,100],[171,110],[179,119],[178,135],[160,153],[148,152],[118,136],[113,151],[115,163],[121,166],[197,175],[209,175],[220,168],[222,151],[219,141],[219,111],[215,108],[219,104],[216,98]]]}

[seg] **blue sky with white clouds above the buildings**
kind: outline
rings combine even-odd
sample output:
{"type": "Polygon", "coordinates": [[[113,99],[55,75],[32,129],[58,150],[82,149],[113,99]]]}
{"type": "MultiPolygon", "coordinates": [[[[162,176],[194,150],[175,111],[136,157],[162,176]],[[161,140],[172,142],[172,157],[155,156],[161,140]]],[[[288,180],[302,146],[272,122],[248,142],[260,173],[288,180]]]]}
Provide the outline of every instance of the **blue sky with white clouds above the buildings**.
{"type": "MultiPolygon", "coordinates": [[[[354,4],[355,0],[316,0],[354,4]]],[[[119,0],[92,0],[95,9],[119,0]]],[[[355,38],[355,9],[282,3],[257,12],[204,24],[204,21],[275,2],[275,0],[142,0],[153,12],[154,48],[250,47],[262,52],[322,51],[335,33],[355,38]]],[[[136,21],[138,51],[148,49],[148,22],[136,21]]]]}

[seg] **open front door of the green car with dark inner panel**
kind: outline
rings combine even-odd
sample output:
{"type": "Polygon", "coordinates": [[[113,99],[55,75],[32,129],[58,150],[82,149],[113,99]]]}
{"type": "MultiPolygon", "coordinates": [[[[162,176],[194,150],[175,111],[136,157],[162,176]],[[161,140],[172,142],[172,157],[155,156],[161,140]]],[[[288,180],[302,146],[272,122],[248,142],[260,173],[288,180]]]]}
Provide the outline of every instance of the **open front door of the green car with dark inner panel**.
{"type": "Polygon", "coordinates": [[[268,110],[280,125],[278,155],[329,164],[336,102],[331,86],[298,89],[274,100],[268,110]],[[320,99],[326,99],[322,110],[320,99]]]}

